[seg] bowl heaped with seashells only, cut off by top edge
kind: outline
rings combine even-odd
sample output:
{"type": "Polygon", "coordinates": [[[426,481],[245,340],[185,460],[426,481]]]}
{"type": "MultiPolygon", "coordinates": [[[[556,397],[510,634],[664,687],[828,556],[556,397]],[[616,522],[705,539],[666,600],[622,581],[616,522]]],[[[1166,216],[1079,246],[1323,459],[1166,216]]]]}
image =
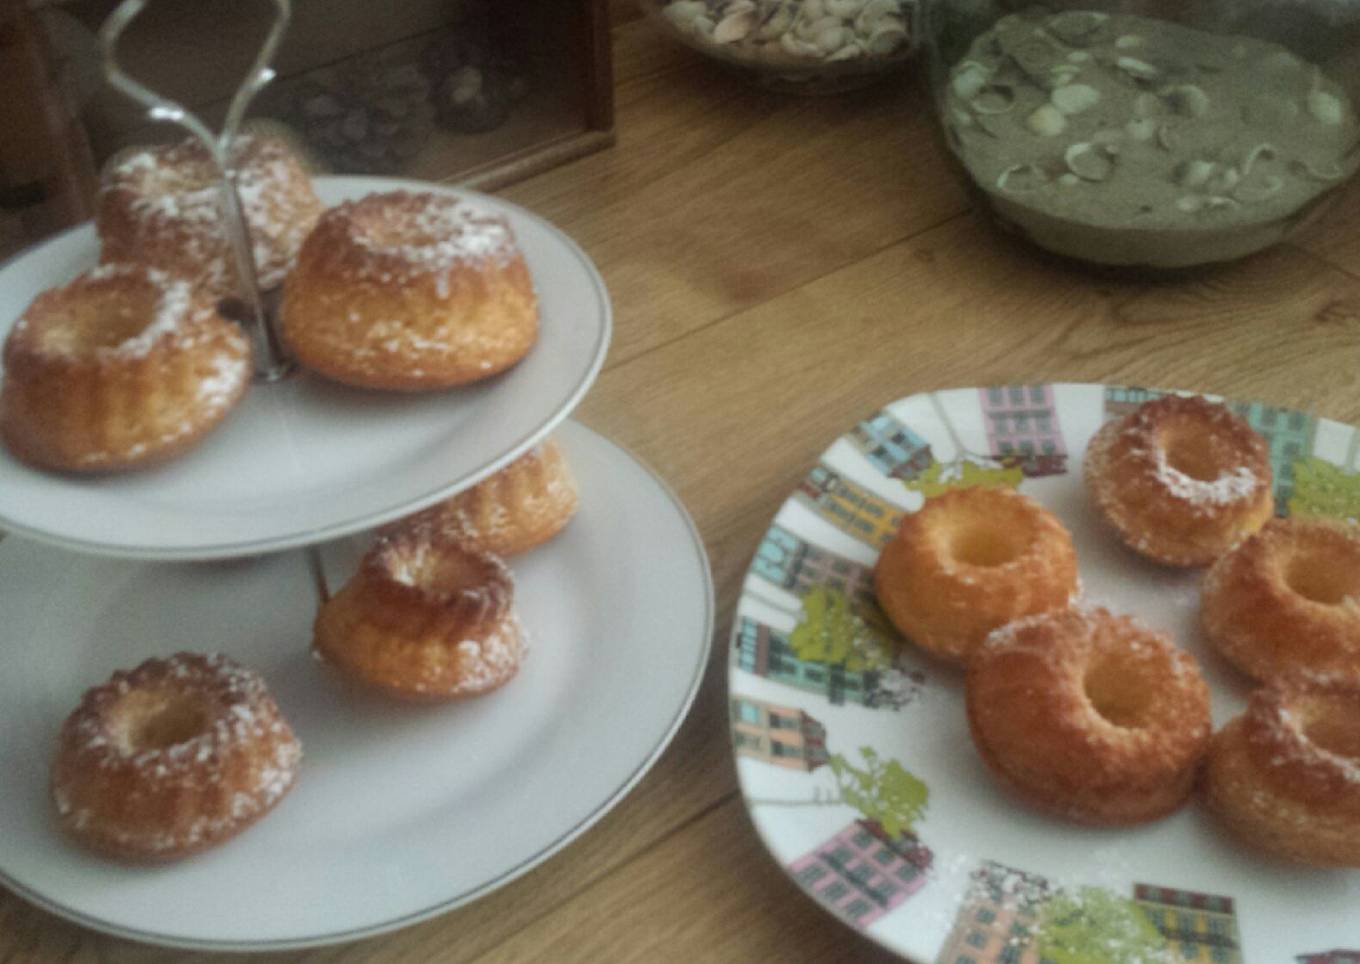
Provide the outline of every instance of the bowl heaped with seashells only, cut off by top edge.
{"type": "Polygon", "coordinates": [[[914,0],[639,0],[666,34],[760,84],[830,94],[870,84],[914,50],[914,0]]]}

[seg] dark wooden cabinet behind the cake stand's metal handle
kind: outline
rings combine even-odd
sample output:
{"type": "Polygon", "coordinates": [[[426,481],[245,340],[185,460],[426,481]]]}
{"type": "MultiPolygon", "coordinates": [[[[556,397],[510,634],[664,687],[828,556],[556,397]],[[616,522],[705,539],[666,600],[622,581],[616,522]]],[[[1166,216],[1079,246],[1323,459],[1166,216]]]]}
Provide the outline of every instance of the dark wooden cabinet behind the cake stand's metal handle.
{"type": "MultiPolygon", "coordinates": [[[[67,199],[48,216],[7,215],[0,245],[88,216],[91,170],[128,145],[182,136],[91,71],[95,33],[116,5],[48,1],[27,12],[24,0],[0,0],[0,44],[23,54],[0,48],[0,79],[12,91],[10,75],[23,73],[20,88],[54,114],[38,124],[18,106],[31,99],[0,105],[0,186],[23,199],[35,178],[60,182],[67,199]],[[19,145],[23,158],[11,160],[19,145]]],[[[268,0],[152,0],[120,61],[216,125],[273,10],[268,0]]],[[[321,171],[496,188],[612,143],[608,20],[608,0],[294,0],[277,79],[249,122],[291,136],[321,171]]]]}

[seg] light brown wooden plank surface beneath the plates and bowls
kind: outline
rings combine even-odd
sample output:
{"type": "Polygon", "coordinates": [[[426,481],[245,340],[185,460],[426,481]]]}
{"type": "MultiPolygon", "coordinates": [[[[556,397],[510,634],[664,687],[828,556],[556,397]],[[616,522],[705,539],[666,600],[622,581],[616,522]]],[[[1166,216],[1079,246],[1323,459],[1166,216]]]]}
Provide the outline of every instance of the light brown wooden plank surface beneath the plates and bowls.
{"type": "MultiPolygon", "coordinates": [[[[894,960],[766,855],[729,751],[725,643],[741,575],[821,449],[913,392],[1044,379],[1360,421],[1360,192],[1242,264],[1178,283],[1104,280],[970,212],[906,79],[790,99],[638,20],[616,29],[616,75],[617,147],[505,193],[568,231],[609,286],[615,343],[578,417],[665,476],[703,533],[718,591],[707,678],[654,771],[536,872],[388,937],[268,960],[894,960]]],[[[0,961],[182,957],[0,893],[0,961]]]]}

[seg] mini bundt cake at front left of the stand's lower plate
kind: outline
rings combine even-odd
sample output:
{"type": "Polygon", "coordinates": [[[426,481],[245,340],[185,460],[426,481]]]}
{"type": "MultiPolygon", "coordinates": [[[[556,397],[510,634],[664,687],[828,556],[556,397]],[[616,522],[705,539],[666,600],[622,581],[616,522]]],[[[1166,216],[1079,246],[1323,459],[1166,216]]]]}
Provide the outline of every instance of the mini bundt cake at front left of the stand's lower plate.
{"type": "Polygon", "coordinates": [[[268,813],[301,759],[260,676],[222,655],[177,653],[86,692],[61,727],[52,799],[82,844],[170,861],[268,813]]]}

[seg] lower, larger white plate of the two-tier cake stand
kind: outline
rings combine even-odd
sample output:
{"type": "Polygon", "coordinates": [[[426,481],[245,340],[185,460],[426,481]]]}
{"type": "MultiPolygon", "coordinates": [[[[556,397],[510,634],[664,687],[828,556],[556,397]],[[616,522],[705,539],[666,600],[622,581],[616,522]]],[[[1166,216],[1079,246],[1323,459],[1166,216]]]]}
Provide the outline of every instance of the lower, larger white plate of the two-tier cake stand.
{"type": "MultiPolygon", "coordinates": [[[[707,661],[713,598],[688,517],[643,466],[574,423],[558,434],[577,518],[511,560],[532,650],[488,696],[407,706],[309,654],[307,552],[118,563],[0,543],[0,882],[133,940],[258,950],[354,940],[447,911],[585,832],[649,770],[707,661]],[[258,824],[188,861],[87,855],[52,823],[63,718],[117,668],[175,650],[261,672],[303,742],[258,824]]],[[[328,585],[363,538],[322,547],[328,585]]]]}

